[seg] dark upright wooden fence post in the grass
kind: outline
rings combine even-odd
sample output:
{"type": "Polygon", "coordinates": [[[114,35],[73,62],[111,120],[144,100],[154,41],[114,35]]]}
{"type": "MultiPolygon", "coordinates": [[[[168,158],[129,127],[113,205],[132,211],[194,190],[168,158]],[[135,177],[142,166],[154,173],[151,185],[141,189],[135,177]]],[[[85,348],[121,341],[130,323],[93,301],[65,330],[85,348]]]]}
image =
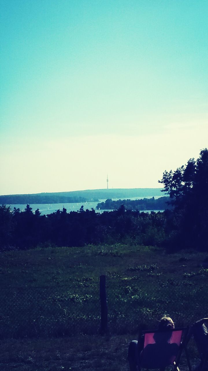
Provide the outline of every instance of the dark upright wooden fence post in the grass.
{"type": "Polygon", "coordinates": [[[106,301],[105,275],[100,276],[100,305],[101,305],[101,325],[100,335],[106,335],[108,331],[108,307],[106,301]]]}

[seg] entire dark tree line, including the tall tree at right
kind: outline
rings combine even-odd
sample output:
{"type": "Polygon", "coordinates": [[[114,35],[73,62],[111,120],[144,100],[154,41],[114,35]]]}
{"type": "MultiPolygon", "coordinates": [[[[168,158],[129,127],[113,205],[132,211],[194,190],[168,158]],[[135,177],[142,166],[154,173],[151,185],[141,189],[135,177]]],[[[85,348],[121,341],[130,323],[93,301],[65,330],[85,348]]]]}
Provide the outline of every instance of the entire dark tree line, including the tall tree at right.
{"type": "Polygon", "coordinates": [[[175,171],[165,171],[160,183],[169,194],[172,210],[125,210],[96,213],[94,209],[57,210],[41,215],[29,204],[24,211],[0,207],[0,249],[28,249],[45,244],[135,243],[164,246],[169,251],[194,248],[208,251],[208,150],[175,171]]]}

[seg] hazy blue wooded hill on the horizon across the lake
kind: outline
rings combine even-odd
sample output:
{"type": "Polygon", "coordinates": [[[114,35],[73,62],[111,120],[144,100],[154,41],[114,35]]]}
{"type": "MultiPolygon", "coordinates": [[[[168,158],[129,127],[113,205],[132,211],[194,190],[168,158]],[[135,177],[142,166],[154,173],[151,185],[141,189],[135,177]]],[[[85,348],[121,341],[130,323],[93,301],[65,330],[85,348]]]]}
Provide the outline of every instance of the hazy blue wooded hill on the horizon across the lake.
{"type": "Polygon", "coordinates": [[[0,196],[0,204],[54,204],[70,202],[86,202],[107,198],[131,198],[162,196],[163,188],[115,188],[115,189],[92,189],[84,191],[34,193],[34,194],[10,194],[0,196]]]}

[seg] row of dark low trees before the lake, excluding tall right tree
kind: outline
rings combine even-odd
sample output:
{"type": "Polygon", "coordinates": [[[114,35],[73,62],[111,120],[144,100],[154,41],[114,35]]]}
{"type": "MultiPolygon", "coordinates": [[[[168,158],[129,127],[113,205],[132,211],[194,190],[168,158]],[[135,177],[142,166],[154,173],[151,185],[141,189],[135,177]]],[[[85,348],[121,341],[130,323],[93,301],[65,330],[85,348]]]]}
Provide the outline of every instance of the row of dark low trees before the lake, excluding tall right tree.
{"type": "MultiPolygon", "coordinates": [[[[167,211],[168,212],[168,211],[167,211]]],[[[84,246],[86,244],[137,243],[160,246],[167,231],[167,212],[140,213],[120,209],[102,214],[95,210],[57,210],[41,216],[27,204],[25,211],[0,207],[0,250],[30,249],[43,244],[84,246]]],[[[108,252],[113,255],[118,252],[108,252]]],[[[103,254],[100,250],[100,254],[103,254]]]]}

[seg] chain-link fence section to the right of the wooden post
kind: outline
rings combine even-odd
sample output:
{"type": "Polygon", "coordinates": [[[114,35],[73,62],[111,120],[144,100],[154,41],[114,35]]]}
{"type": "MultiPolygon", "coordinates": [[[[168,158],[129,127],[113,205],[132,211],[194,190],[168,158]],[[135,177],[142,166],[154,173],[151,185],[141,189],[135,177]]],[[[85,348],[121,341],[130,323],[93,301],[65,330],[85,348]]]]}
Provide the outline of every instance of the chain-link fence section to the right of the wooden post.
{"type": "Polygon", "coordinates": [[[108,322],[117,334],[136,333],[139,326],[156,328],[157,320],[169,315],[176,326],[187,326],[206,316],[208,280],[203,286],[189,280],[163,282],[107,280],[108,322]]]}

